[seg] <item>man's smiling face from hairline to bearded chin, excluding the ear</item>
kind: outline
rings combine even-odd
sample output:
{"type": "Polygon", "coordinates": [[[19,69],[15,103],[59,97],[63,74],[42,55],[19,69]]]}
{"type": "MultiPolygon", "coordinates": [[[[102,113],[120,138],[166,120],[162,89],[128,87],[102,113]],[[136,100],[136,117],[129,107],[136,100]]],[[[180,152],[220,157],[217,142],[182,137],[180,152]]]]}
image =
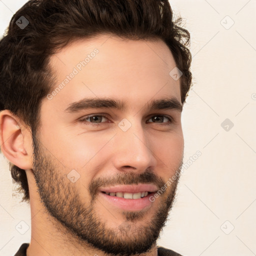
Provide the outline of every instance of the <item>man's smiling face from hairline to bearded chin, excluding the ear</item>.
{"type": "Polygon", "coordinates": [[[168,216],[178,178],[166,182],[183,157],[170,50],[161,40],[100,35],[66,46],[50,65],[56,84],[33,131],[33,171],[48,214],[79,243],[115,255],[146,252],[168,216]]]}

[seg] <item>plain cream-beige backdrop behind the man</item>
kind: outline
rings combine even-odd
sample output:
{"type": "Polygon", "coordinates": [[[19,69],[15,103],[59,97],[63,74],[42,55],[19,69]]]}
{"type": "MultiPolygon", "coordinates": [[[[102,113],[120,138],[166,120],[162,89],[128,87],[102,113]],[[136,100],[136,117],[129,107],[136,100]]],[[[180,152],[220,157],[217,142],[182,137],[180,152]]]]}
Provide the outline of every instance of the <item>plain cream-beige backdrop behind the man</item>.
{"type": "MultiPolygon", "coordinates": [[[[24,2],[0,0],[0,34],[24,2]]],[[[184,256],[251,256],[256,253],[256,0],[170,3],[191,33],[194,86],[182,114],[184,162],[197,150],[201,156],[188,162],[158,244],[184,256]]],[[[0,255],[11,256],[29,242],[30,212],[12,196],[2,155],[0,166],[0,255]],[[15,229],[20,221],[29,228],[24,234],[15,229]]]]}

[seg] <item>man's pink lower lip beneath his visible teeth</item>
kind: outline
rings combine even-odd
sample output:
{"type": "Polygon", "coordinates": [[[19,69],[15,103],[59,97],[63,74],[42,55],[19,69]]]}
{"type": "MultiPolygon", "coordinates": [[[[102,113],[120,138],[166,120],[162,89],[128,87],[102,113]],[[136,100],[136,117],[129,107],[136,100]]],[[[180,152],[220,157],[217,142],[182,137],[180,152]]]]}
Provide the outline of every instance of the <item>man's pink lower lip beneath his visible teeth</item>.
{"type": "Polygon", "coordinates": [[[142,210],[149,207],[152,202],[149,201],[149,197],[153,193],[149,193],[147,196],[138,199],[125,199],[123,197],[111,196],[105,193],[99,192],[105,200],[109,201],[111,204],[128,211],[142,210]]]}

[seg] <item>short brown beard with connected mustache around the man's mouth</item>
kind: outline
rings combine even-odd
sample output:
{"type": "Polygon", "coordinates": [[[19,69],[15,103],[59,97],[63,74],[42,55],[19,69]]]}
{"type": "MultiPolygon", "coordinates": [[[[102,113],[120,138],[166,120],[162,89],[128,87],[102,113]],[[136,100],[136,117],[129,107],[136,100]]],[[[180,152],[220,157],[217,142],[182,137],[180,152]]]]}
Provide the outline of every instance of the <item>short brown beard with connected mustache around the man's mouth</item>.
{"type": "MultiPolygon", "coordinates": [[[[140,221],[139,224],[136,221],[143,220],[147,216],[146,211],[123,211],[124,221],[119,226],[110,228],[106,226],[107,221],[100,219],[94,207],[101,186],[153,183],[160,189],[165,184],[164,180],[152,171],[140,174],[125,172],[96,178],[85,189],[89,199],[84,203],[75,184],[66,177],[63,165],[44,149],[34,133],[32,138],[33,172],[37,191],[47,214],[53,217],[55,227],[62,234],[84,245],[84,248],[96,248],[112,255],[145,253],[156,244],[172,207],[179,175],[176,180],[172,180],[168,189],[161,191],[158,198],[161,203],[150,220],[140,221]]],[[[176,169],[178,174],[180,166],[176,169]]],[[[110,226],[113,224],[110,223],[110,226]]]]}

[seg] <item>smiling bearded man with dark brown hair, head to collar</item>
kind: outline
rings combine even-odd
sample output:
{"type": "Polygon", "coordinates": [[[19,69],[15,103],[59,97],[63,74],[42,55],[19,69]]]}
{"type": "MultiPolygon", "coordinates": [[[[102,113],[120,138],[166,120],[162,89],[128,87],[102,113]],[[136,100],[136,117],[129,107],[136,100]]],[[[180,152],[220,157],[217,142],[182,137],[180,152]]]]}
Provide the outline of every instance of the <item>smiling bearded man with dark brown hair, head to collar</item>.
{"type": "Polygon", "coordinates": [[[15,255],[156,245],[183,159],[189,33],[167,0],[31,0],[0,41],[0,143],[31,207],[15,255]]]}

